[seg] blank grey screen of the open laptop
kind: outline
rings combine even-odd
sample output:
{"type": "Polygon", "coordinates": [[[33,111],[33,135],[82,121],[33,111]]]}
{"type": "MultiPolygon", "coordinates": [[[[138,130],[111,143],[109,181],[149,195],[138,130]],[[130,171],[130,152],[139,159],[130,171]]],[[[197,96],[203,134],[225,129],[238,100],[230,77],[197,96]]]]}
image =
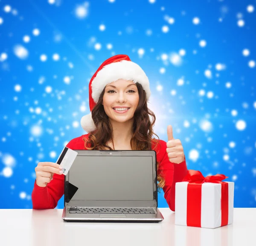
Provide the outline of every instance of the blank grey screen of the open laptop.
{"type": "Polygon", "coordinates": [[[153,200],[152,156],[77,156],[71,200],[153,200]]]}

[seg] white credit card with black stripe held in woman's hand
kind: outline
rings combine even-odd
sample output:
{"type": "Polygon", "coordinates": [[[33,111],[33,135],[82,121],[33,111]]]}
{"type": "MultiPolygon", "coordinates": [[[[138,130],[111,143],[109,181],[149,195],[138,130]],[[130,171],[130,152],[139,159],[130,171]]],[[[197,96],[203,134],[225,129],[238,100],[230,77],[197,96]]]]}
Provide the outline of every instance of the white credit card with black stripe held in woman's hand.
{"type": "Polygon", "coordinates": [[[63,171],[64,175],[67,175],[77,155],[78,153],[75,150],[71,150],[67,147],[64,147],[64,149],[61,151],[56,163],[63,167],[61,170],[63,171]]]}

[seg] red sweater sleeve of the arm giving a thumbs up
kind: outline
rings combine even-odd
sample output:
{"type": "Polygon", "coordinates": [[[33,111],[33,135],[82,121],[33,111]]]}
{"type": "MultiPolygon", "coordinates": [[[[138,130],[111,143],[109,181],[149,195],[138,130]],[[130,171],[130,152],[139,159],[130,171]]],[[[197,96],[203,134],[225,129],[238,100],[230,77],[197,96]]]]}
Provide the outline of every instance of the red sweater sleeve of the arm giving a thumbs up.
{"type": "Polygon", "coordinates": [[[166,199],[169,208],[175,211],[175,183],[181,182],[182,179],[188,173],[186,166],[186,156],[183,162],[176,164],[169,161],[169,157],[166,152],[166,142],[163,141],[163,149],[165,153],[163,154],[163,159],[159,164],[160,175],[162,173],[165,179],[165,185],[163,187],[164,198],[166,199]]]}

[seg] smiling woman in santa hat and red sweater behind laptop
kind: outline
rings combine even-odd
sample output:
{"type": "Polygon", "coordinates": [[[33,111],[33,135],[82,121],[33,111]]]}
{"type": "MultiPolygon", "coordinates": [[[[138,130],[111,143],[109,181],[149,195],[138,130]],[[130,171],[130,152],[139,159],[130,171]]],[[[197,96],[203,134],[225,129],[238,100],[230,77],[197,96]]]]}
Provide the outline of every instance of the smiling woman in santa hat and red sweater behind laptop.
{"type": "MultiPolygon", "coordinates": [[[[187,174],[186,160],[179,139],[168,126],[168,142],[153,132],[154,113],[148,109],[151,92],[145,72],[127,55],[106,60],[89,83],[91,113],[83,116],[81,126],[88,134],[72,139],[74,150],[155,150],[158,190],[175,211],[175,183],[187,174]],[[152,120],[150,120],[150,116],[152,120]],[[156,135],[158,139],[152,138],[156,135]]],[[[39,162],[32,191],[34,209],[55,208],[64,194],[64,175],[54,162],[39,162]]],[[[143,174],[142,174],[143,175],[143,174]]]]}

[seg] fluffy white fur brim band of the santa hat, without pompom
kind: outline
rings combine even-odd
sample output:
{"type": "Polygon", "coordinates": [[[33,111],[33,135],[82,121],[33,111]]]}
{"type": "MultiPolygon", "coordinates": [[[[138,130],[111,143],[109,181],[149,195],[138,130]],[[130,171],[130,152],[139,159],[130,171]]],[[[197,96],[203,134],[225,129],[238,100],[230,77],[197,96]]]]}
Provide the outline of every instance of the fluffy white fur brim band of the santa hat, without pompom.
{"type": "Polygon", "coordinates": [[[134,83],[140,83],[146,92],[147,100],[149,99],[151,95],[149,81],[143,69],[132,61],[122,60],[108,64],[99,70],[92,81],[93,101],[97,103],[104,87],[119,79],[132,80],[134,83]]]}

